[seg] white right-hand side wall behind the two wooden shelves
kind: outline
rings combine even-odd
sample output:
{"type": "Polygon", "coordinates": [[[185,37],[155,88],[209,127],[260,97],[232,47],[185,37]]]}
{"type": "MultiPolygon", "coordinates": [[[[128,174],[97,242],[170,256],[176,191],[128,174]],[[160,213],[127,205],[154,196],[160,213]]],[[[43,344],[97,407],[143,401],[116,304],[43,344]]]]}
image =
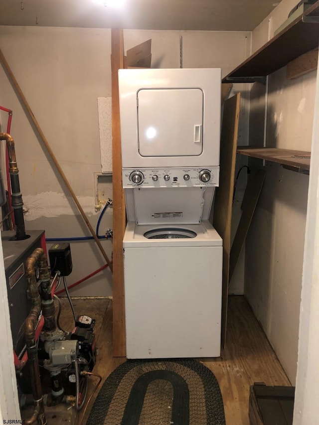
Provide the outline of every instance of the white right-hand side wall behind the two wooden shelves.
{"type": "MultiPolygon", "coordinates": [[[[253,32],[253,51],[288,16],[284,0],[253,32]],[[269,28],[271,22],[271,28],[269,28]]],[[[252,88],[250,144],[263,145],[264,89],[252,88]]],[[[266,146],[311,150],[316,72],[286,79],[286,67],[269,76],[266,146]]],[[[251,160],[262,166],[262,161],[251,160]]],[[[299,311],[309,176],[268,163],[246,241],[245,295],[292,384],[296,381],[299,311]]]]}

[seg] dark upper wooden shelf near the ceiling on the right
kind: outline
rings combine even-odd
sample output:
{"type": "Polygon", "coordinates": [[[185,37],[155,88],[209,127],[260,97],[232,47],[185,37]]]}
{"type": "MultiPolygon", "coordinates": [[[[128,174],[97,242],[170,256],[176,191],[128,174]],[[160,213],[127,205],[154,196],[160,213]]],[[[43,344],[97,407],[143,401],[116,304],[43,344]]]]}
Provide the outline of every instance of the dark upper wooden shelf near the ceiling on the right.
{"type": "Polygon", "coordinates": [[[223,78],[223,83],[265,79],[268,74],[318,47],[319,1],[223,78]]]}

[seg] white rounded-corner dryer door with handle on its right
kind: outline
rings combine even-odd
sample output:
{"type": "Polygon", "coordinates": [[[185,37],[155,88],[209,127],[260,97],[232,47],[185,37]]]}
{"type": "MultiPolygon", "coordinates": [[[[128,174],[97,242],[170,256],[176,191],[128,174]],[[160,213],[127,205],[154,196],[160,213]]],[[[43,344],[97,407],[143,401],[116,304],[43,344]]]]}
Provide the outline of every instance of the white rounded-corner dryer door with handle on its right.
{"type": "Polygon", "coordinates": [[[137,98],[140,155],[200,155],[203,97],[200,89],[140,90],[137,98]]]}

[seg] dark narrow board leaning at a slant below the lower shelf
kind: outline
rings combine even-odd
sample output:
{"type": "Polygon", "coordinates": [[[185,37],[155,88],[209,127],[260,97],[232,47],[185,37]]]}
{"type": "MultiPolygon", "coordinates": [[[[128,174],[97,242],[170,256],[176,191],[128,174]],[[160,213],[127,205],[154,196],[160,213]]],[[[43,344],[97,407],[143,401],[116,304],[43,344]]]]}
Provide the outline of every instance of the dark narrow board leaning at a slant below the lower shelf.
{"type": "Polygon", "coordinates": [[[247,180],[247,186],[241,205],[242,215],[233,240],[229,257],[229,280],[231,280],[239,254],[244,245],[247,232],[256,208],[259,194],[265,179],[265,171],[259,168],[252,168],[247,180]]]}

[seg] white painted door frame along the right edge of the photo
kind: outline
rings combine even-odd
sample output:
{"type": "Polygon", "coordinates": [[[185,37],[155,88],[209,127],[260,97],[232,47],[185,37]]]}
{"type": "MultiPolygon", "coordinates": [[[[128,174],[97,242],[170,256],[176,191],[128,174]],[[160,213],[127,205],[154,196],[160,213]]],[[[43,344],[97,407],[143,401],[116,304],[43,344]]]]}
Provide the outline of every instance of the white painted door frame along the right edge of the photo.
{"type": "MultiPolygon", "coordinates": [[[[319,73],[317,74],[319,81],[319,73]]],[[[309,182],[305,260],[299,328],[298,369],[294,425],[318,423],[319,400],[319,85],[316,105],[309,182]]]]}

